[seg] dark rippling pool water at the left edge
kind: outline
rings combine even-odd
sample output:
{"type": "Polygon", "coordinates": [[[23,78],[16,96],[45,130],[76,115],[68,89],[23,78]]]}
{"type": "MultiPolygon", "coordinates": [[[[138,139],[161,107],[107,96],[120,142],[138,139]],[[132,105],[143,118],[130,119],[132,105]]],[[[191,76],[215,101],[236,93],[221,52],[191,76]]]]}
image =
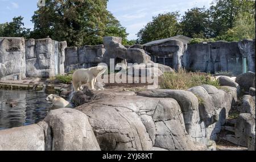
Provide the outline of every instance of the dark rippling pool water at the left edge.
{"type": "Polygon", "coordinates": [[[0,89],[0,130],[38,123],[48,114],[52,104],[46,101],[48,94],[36,91],[0,89]],[[18,103],[6,104],[8,99],[18,103]]]}

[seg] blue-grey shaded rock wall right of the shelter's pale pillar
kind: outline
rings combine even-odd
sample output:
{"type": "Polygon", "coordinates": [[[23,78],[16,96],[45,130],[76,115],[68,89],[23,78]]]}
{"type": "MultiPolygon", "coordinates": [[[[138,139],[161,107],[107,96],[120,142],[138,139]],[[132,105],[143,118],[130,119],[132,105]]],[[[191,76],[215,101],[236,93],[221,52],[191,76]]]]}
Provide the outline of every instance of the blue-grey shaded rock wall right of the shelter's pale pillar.
{"type": "Polygon", "coordinates": [[[243,72],[243,57],[247,58],[247,70],[255,72],[255,40],[189,44],[182,63],[185,69],[193,71],[238,75],[243,72]]]}

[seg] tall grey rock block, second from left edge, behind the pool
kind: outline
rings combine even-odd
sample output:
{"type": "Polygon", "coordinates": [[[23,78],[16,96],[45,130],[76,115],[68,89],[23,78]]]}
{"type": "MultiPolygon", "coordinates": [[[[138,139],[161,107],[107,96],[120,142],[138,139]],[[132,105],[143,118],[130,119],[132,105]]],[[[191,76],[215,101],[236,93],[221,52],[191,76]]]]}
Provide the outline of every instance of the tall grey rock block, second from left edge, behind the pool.
{"type": "Polygon", "coordinates": [[[48,78],[64,74],[66,41],[28,39],[26,48],[26,76],[48,78]]]}

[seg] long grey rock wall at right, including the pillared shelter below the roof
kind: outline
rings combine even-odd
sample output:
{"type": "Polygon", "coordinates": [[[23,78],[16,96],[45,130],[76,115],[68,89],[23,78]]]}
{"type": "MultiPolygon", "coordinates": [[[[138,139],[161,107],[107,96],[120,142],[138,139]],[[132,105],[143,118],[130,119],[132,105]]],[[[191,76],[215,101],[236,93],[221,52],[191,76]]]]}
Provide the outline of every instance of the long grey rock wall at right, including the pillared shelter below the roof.
{"type": "Polygon", "coordinates": [[[150,53],[155,63],[178,69],[201,72],[243,73],[243,57],[247,59],[247,71],[255,72],[255,40],[216,41],[214,43],[183,44],[170,40],[157,45],[146,45],[143,49],[150,53]]]}

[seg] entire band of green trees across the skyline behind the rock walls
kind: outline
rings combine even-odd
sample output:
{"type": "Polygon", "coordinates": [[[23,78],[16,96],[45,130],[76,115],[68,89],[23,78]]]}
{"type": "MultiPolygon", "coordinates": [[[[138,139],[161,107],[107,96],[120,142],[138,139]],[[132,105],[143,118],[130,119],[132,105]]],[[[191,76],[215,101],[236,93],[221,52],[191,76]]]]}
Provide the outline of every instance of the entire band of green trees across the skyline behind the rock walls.
{"type": "Polygon", "coordinates": [[[209,9],[193,7],[180,17],[179,11],[152,17],[127,40],[126,28],[107,10],[108,0],[46,0],[32,16],[34,30],[24,27],[22,16],[0,24],[0,36],[66,40],[68,46],[96,45],[103,36],[118,36],[124,45],[147,43],[182,34],[200,40],[255,38],[255,1],[213,0],[209,9]]]}

